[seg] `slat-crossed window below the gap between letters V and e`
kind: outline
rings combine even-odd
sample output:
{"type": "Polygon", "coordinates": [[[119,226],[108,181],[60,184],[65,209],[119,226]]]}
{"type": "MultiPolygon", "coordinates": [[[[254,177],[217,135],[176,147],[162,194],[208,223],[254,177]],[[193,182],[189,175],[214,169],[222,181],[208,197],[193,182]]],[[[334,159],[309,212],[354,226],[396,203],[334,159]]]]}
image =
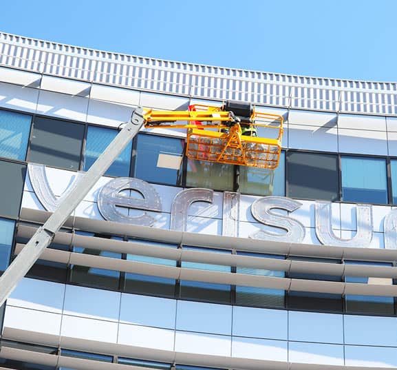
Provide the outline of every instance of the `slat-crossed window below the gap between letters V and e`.
{"type": "MultiPolygon", "coordinates": [[[[79,235],[97,236],[89,232],[76,232],[79,235]]],[[[90,254],[93,256],[102,256],[110,258],[121,258],[120,253],[113,251],[100,251],[98,249],[89,249],[83,247],[73,247],[73,251],[82,254],[90,254]]],[[[96,267],[86,266],[71,266],[70,281],[76,282],[81,285],[88,285],[91,287],[103,287],[108,289],[117,290],[120,281],[120,271],[109,269],[98,269],[96,267]]]]}

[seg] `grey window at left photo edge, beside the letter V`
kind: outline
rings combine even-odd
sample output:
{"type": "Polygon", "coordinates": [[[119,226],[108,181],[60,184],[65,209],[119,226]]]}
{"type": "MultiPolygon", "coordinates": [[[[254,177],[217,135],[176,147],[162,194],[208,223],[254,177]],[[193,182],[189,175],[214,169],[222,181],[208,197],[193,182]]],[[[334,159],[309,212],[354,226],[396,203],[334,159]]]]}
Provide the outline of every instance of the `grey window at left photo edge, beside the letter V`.
{"type": "Polygon", "coordinates": [[[21,207],[26,166],[0,161],[0,215],[17,218],[21,207]]]}

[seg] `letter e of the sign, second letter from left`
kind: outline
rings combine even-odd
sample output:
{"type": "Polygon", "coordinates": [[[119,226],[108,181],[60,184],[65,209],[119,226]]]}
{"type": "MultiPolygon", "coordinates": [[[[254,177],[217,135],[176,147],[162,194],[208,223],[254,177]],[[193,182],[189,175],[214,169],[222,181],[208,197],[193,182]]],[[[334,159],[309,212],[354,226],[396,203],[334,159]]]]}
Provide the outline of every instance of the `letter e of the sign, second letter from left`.
{"type": "Polygon", "coordinates": [[[155,188],[139,178],[119,177],[109,181],[98,194],[98,208],[105,220],[116,223],[130,223],[132,225],[152,226],[155,218],[147,212],[138,216],[127,216],[119,212],[117,207],[144,209],[161,212],[160,196],[155,188]],[[122,194],[123,190],[138,192],[143,198],[133,198],[122,194]]]}

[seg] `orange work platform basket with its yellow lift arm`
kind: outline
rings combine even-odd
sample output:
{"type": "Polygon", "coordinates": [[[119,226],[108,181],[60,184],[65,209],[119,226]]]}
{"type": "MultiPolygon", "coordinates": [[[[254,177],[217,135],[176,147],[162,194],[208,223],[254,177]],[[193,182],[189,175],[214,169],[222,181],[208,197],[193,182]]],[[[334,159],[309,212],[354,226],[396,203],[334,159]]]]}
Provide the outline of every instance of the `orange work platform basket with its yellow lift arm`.
{"type": "Polygon", "coordinates": [[[239,122],[222,107],[189,105],[188,111],[148,110],[145,119],[146,127],[186,128],[189,159],[266,169],[279,165],[283,117],[278,114],[254,109],[249,122],[239,122]]]}

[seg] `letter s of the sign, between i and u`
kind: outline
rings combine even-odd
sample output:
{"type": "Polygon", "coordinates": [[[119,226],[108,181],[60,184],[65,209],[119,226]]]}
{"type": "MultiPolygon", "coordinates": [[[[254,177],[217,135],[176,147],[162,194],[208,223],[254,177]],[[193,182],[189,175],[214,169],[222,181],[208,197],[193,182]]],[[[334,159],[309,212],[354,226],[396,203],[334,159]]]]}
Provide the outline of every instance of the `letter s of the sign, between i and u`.
{"type": "Polygon", "coordinates": [[[272,212],[273,208],[286,209],[293,212],[302,203],[283,196],[264,196],[257,199],[251,206],[251,213],[255,220],[264,225],[286,230],[286,233],[276,234],[267,230],[260,230],[250,235],[250,238],[261,240],[276,240],[288,243],[301,243],[305,237],[305,227],[297,220],[288,216],[281,216],[272,212]]]}

